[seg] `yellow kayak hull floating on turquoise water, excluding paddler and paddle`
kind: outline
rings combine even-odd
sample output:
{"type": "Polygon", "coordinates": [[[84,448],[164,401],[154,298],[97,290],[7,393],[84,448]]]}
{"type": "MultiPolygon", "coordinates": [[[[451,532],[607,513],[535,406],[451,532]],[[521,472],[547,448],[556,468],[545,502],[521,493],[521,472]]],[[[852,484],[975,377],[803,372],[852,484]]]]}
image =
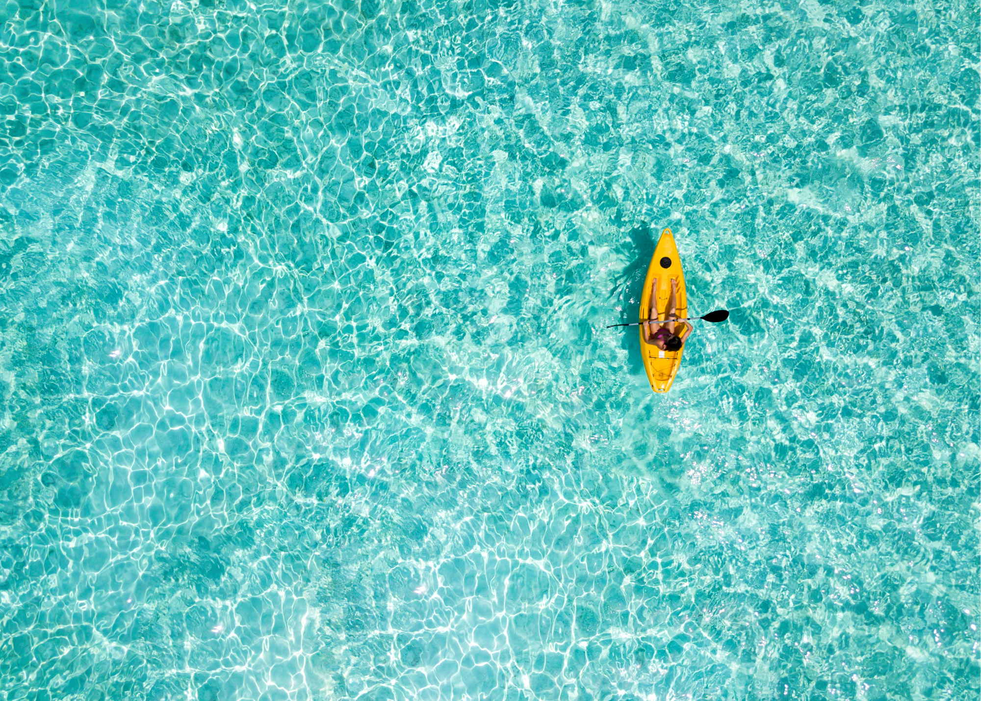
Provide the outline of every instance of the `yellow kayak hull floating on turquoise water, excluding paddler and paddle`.
{"type": "MultiPolygon", "coordinates": [[[[647,267],[647,277],[644,281],[644,294],[641,296],[641,321],[648,318],[650,305],[653,303],[657,310],[656,318],[664,318],[664,310],[671,297],[671,279],[678,281],[678,310],[677,314],[681,318],[688,316],[688,298],[685,296],[685,272],[681,268],[681,257],[678,255],[678,246],[674,243],[674,236],[670,229],[661,232],[661,239],[654,248],[654,254],[650,258],[650,265],[647,267]]],[[[650,389],[657,393],[667,392],[671,389],[671,383],[678,373],[681,365],[681,355],[685,351],[681,350],[660,350],[656,346],[647,344],[644,340],[644,326],[641,326],[641,353],[644,356],[644,369],[647,371],[647,380],[650,382],[650,389]]]]}

